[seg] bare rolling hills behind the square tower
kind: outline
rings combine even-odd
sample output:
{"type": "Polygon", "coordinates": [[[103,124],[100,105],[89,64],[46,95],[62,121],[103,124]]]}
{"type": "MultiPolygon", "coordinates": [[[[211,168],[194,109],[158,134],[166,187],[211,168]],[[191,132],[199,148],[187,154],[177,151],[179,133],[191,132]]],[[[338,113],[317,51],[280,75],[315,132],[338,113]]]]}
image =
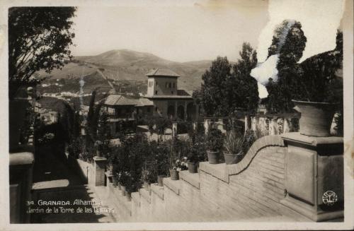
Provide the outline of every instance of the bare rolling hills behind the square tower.
{"type": "MultiPolygon", "coordinates": [[[[73,62],[67,64],[62,70],[54,70],[48,74],[40,72],[41,76],[48,79],[71,78],[93,74],[96,69],[101,69],[106,78],[114,81],[131,81],[132,83],[145,83],[147,71],[153,68],[166,68],[178,73],[179,85],[183,89],[200,87],[202,74],[211,65],[211,61],[176,62],[161,59],[154,54],[135,52],[127,49],[111,50],[95,56],[74,57],[73,62]]],[[[101,78],[100,76],[95,77],[101,78]]],[[[93,81],[91,78],[89,81],[93,81]]],[[[97,80],[98,81],[98,80],[97,80]]],[[[77,83],[72,83],[77,85],[77,83]]],[[[90,84],[89,84],[90,85],[90,84]]],[[[93,84],[94,85],[94,84],[93,84]]]]}

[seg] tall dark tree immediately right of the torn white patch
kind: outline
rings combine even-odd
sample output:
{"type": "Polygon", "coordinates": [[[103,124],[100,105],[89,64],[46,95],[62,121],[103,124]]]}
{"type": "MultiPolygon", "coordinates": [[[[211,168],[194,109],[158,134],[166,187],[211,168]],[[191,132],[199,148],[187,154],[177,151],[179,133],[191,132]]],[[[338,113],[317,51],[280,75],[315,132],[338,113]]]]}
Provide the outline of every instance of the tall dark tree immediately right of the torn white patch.
{"type": "Polygon", "coordinates": [[[302,31],[301,23],[284,20],[275,29],[272,45],[268,48],[268,57],[278,54],[278,80],[269,81],[265,86],[268,90],[268,112],[291,112],[291,100],[301,97],[303,93],[301,76],[302,68],[297,64],[301,59],[307,38],[302,31]]]}

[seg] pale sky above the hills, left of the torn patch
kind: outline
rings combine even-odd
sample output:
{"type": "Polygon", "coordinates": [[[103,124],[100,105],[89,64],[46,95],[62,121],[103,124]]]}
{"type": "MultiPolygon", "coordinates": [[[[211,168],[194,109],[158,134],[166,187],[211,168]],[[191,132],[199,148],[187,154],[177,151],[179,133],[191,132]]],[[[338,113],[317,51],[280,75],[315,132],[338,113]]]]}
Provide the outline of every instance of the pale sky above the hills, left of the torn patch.
{"type": "Polygon", "coordinates": [[[149,5],[79,6],[74,55],[111,49],[149,52],[171,61],[239,58],[243,42],[256,48],[268,21],[268,1],[150,1],[149,5]],[[181,2],[183,4],[181,4],[181,2]]]}

